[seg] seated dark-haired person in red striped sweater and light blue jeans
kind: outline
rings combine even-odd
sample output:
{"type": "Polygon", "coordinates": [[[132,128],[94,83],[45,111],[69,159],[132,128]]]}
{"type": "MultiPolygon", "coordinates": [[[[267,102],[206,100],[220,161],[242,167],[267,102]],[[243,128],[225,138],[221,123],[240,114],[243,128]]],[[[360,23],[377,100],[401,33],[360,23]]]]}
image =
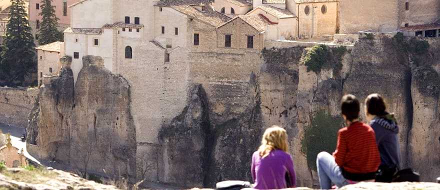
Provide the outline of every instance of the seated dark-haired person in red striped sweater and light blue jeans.
{"type": "Polygon", "coordinates": [[[349,184],[350,181],[374,179],[380,164],[373,129],[359,122],[359,101],[354,95],[344,95],[341,103],[342,117],[347,127],[337,132],[336,150],[333,155],[320,152],[316,166],[321,189],[349,184]]]}

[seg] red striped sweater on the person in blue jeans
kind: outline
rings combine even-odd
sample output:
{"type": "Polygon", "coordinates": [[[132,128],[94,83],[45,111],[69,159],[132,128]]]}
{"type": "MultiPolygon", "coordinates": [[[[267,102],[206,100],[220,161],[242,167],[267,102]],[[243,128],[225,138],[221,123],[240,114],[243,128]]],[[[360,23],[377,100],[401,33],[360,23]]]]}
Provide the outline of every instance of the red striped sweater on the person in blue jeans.
{"type": "Polygon", "coordinates": [[[374,130],[362,122],[339,129],[333,156],[337,165],[350,173],[377,171],[380,155],[374,130]]]}

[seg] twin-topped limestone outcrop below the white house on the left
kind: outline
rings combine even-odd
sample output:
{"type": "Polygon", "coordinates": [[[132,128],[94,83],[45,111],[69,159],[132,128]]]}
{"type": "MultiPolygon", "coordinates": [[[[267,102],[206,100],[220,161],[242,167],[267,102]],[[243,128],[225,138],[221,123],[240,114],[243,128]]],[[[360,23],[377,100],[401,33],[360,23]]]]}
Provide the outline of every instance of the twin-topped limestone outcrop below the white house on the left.
{"type": "Polygon", "coordinates": [[[135,176],[128,82],[104,68],[102,58],[84,56],[73,87],[70,61],[40,88],[29,119],[29,152],[78,170],[135,176]]]}

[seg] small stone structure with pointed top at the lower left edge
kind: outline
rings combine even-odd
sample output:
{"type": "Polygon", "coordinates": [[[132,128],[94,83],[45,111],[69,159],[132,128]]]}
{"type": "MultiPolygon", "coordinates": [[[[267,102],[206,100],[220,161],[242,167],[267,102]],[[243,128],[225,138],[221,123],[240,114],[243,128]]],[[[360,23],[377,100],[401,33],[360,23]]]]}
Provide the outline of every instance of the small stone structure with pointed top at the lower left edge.
{"type": "Polygon", "coordinates": [[[6,145],[0,147],[0,162],[4,162],[6,167],[26,165],[26,157],[23,155],[23,149],[18,150],[18,148],[12,146],[10,141],[10,134],[7,134],[6,145]]]}

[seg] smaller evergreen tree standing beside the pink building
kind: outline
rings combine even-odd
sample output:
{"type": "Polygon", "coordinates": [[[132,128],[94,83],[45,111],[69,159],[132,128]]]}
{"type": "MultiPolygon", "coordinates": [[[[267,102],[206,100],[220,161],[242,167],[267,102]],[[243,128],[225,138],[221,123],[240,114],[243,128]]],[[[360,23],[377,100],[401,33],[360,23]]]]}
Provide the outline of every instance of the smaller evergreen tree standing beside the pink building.
{"type": "Polygon", "coordinates": [[[45,45],[54,41],[61,41],[62,33],[58,31],[59,18],[55,15],[55,8],[52,0],[41,0],[42,21],[39,29],[38,43],[45,45]]]}

